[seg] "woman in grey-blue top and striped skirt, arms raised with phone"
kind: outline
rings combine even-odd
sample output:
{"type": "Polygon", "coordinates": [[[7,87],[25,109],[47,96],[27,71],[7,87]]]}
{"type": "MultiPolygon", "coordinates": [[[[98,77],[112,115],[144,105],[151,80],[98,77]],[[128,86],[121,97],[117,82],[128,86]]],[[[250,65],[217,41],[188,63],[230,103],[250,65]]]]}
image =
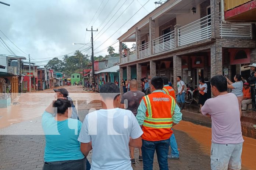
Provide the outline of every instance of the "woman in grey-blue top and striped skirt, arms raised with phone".
{"type": "MultiPolygon", "coordinates": [[[[227,77],[226,77],[227,78],[227,77]]],[[[242,82],[242,76],[240,74],[236,74],[234,77],[234,83],[228,80],[228,88],[232,89],[232,93],[237,96],[238,104],[239,104],[239,110],[240,110],[240,117],[242,115],[242,100],[243,100],[243,82],[242,82]]]]}

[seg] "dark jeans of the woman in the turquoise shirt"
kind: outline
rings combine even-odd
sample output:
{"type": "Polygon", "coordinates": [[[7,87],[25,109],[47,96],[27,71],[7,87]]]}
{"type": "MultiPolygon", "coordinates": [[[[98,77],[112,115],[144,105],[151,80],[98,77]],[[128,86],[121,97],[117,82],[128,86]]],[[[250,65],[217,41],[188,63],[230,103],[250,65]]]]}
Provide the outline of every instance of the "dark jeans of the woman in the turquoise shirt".
{"type": "Polygon", "coordinates": [[[44,162],[43,170],[89,170],[90,163],[86,158],[79,160],[64,160],[44,162]]]}

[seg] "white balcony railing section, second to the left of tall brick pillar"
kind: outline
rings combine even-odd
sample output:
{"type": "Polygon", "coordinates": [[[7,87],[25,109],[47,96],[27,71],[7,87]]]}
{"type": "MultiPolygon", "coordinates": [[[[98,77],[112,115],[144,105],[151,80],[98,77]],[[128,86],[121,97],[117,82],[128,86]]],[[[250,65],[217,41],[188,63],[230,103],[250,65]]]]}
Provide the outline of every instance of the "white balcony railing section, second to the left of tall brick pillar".
{"type": "Polygon", "coordinates": [[[153,54],[163,52],[174,47],[174,31],[153,40],[153,54]]]}

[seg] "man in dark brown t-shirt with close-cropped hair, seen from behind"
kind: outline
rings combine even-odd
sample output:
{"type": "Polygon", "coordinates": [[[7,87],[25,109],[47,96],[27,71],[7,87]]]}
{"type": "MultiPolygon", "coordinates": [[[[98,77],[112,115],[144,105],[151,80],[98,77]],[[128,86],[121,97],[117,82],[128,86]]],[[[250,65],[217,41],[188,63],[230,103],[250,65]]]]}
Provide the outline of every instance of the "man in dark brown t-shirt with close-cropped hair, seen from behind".
{"type": "MultiPolygon", "coordinates": [[[[137,110],[138,110],[139,104],[141,103],[141,99],[143,96],[145,96],[145,93],[139,91],[137,86],[138,86],[138,81],[135,79],[132,79],[130,81],[130,91],[122,95],[122,99],[120,102],[120,108],[124,108],[132,111],[132,113],[135,116],[137,115],[137,110]]],[[[134,148],[129,147],[129,149],[131,154],[131,163],[134,164],[135,163],[134,148]]],[[[142,160],[141,148],[139,148],[139,160],[142,160]]]]}

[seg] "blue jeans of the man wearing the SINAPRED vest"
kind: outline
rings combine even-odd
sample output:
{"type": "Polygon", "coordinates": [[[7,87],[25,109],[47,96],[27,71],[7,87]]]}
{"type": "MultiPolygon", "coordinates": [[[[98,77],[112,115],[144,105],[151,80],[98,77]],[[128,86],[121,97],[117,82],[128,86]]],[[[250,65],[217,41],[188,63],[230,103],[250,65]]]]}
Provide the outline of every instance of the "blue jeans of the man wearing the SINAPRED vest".
{"type": "Polygon", "coordinates": [[[170,139],[147,141],[142,139],[143,170],[153,170],[154,152],[156,151],[160,170],[168,170],[168,151],[170,139]]]}

